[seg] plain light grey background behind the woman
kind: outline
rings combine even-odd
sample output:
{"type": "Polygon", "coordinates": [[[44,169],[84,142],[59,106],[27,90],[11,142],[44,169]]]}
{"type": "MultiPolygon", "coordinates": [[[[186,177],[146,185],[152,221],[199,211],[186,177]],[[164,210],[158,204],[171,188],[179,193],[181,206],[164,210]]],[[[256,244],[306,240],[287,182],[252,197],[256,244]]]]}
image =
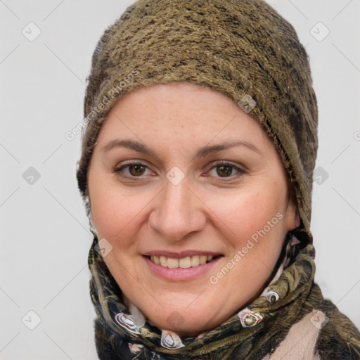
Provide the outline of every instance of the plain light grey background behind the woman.
{"type": "MultiPolygon", "coordinates": [[[[98,359],[80,136],[65,134],[82,121],[96,42],[132,3],[0,1],[0,359],[98,359]]],[[[306,46],[319,102],[316,281],[360,327],[360,1],[269,4],[306,46]]]]}

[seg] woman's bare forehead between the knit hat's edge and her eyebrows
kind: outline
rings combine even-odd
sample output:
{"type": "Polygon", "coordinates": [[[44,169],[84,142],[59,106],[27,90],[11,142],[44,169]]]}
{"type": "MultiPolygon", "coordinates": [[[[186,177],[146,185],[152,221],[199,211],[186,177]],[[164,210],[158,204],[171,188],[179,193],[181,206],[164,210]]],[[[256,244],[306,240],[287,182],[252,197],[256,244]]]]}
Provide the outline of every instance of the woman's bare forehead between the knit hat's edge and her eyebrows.
{"type": "MultiPolygon", "coordinates": [[[[201,143],[248,139],[262,146],[265,131],[228,96],[192,83],[156,84],[131,91],[113,106],[102,138],[117,134],[155,139],[194,139],[201,143]]],[[[155,140],[154,139],[154,140],[155,140]]],[[[267,144],[269,145],[269,143],[267,144]]]]}

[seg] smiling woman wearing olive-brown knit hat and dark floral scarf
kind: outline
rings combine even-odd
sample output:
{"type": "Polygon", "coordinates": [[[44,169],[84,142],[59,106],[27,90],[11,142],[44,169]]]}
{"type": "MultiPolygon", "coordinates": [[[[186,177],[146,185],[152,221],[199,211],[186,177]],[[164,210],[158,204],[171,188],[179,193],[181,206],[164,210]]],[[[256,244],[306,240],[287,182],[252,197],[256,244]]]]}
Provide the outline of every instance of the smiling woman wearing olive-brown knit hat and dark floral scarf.
{"type": "Polygon", "coordinates": [[[360,359],[314,283],[316,96],[273,8],[136,2],[96,46],[84,114],[100,359],[360,359]]]}

